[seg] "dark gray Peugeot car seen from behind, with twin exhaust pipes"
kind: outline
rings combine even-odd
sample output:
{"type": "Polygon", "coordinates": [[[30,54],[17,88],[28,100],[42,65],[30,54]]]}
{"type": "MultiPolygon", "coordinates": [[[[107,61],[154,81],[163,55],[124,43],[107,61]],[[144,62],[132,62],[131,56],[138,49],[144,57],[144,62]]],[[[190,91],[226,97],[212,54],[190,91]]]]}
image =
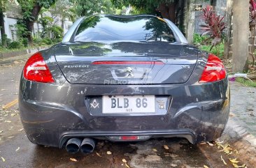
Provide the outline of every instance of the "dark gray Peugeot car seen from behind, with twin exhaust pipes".
{"type": "Polygon", "coordinates": [[[229,117],[225,68],[169,20],[93,15],[32,55],[20,116],[34,144],[92,152],[95,139],[217,139],[229,117]]]}

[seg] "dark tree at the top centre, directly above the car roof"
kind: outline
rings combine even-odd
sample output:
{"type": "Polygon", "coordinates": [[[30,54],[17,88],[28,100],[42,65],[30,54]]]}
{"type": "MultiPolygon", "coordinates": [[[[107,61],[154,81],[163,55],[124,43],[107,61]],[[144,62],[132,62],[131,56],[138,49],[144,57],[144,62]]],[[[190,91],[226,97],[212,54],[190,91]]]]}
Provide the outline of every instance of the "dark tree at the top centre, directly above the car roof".
{"type": "MultiPolygon", "coordinates": [[[[141,13],[157,14],[161,13],[162,17],[176,23],[176,15],[180,11],[178,0],[111,0],[118,8],[122,6],[133,6],[141,13]]],[[[182,1],[182,0],[180,0],[182,1]]]]}

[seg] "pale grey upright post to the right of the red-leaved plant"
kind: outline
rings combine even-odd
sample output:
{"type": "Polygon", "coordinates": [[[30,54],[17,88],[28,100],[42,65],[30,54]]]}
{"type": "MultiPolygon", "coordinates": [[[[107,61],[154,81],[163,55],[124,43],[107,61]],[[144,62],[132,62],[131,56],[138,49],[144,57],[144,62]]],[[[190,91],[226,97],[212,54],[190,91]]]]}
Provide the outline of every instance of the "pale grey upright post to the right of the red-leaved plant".
{"type": "Polygon", "coordinates": [[[233,71],[248,70],[249,2],[233,1],[233,71]]]}

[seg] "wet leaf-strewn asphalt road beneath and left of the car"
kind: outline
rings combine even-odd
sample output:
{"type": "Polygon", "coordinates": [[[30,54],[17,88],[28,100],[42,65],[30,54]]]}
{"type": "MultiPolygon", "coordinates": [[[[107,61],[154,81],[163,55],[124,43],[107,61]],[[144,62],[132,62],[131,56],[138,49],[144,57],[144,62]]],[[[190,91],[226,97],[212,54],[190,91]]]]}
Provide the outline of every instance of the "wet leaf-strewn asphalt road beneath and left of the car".
{"type": "MultiPolygon", "coordinates": [[[[17,99],[23,66],[22,60],[0,65],[1,106],[17,99]]],[[[235,156],[219,150],[208,144],[192,145],[186,139],[170,138],[134,143],[101,141],[92,154],[70,154],[64,149],[31,144],[22,130],[17,104],[0,110],[0,167],[233,167],[228,158],[235,156]]]]}

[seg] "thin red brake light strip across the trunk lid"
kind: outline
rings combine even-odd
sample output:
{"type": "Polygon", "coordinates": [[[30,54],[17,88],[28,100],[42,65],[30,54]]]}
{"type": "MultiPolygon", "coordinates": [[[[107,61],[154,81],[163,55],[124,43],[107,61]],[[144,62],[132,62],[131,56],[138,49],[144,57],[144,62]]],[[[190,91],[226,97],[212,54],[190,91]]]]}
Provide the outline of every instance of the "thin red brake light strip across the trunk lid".
{"type": "Polygon", "coordinates": [[[94,61],[94,65],[164,64],[162,61],[94,61]]]}

